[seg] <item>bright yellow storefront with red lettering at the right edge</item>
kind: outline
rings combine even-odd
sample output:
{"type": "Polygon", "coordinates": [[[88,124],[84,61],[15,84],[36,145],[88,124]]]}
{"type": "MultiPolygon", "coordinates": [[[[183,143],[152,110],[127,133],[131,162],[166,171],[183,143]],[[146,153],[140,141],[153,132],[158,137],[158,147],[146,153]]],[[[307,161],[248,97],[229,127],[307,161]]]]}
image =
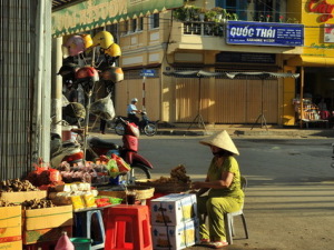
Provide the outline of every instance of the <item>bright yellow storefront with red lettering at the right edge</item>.
{"type": "Polygon", "coordinates": [[[301,56],[287,60],[287,66],[295,67],[301,72],[301,81],[296,86],[296,101],[304,99],[304,106],[298,111],[304,119],[331,119],[334,110],[334,46],[332,31],[334,1],[301,1],[301,22],[305,26],[304,47],[301,56]],[[321,104],[322,99],[325,102],[321,104]],[[311,108],[310,108],[311,107],[311,108]],[[304,109],[305,110],[304,110],[304,109]],[[311,116],[325,109],[325,116],[311,116]]]}

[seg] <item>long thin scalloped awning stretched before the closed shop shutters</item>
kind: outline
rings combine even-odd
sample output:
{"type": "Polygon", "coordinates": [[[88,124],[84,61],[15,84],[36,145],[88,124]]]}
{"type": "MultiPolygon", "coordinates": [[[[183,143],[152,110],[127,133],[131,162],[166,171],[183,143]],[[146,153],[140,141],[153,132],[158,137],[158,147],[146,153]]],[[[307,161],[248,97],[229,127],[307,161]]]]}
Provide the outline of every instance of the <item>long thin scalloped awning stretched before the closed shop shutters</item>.
{"type": "Polygon", "coordinates": [[[175,71],[164,72],[165,76],[177,77],[177,78],[202,78],[202,77],[225,77],[228,79],[234,78],[298,78],[298,73],[276,73],[276,72],[209,72],[204,70],[188,70],[188,71],[175,71]]]}

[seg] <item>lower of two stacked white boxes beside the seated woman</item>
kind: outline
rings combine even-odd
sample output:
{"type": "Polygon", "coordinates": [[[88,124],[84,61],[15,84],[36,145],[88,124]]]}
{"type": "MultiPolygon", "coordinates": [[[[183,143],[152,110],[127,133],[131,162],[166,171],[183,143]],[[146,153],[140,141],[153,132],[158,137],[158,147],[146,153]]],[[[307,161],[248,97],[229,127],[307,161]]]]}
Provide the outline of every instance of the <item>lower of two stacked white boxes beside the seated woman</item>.
{"type": "Polygon", "coordinates": [[[198,220],[189,220],[178,226],[153,226],[154,249],[178,250],[198,242],[198,220]]]}

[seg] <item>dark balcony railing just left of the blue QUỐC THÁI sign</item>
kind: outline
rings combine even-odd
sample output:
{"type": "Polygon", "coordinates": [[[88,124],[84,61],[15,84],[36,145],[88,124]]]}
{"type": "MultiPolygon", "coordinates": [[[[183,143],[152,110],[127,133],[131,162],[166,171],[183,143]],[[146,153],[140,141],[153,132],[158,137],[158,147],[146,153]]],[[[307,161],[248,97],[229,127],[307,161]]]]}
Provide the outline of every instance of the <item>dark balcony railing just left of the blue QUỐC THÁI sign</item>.
{"type": "Polygon", "coordinates": [[[184,34],[224,37],[224,22],[185,21],[184,34]]]}

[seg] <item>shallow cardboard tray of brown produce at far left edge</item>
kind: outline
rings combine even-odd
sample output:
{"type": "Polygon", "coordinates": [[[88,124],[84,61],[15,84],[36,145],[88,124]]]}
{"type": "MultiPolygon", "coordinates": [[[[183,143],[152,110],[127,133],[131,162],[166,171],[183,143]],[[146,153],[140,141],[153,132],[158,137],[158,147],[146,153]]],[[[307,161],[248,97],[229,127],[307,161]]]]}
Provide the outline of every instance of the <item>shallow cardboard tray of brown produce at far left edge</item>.
{"type": "Polygon", "coordinates": [[[47,191],[0,192],[0,198],[8,202],[22,203],[26,200],[47,198],[47,191]]]}

